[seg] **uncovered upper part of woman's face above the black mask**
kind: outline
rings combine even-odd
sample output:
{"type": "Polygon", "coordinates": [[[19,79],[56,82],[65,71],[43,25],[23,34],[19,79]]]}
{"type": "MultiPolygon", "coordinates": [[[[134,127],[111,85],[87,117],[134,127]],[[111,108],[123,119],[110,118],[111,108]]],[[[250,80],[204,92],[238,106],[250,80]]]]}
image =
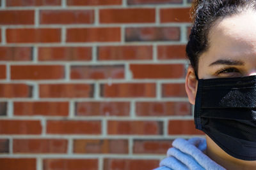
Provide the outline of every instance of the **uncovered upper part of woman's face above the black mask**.
{"type": "Polygon", "coordinates": [[[209,32],[209,48],[198,62],[199,78],[256,74],[256,12],[217,20],[209,32]]]}

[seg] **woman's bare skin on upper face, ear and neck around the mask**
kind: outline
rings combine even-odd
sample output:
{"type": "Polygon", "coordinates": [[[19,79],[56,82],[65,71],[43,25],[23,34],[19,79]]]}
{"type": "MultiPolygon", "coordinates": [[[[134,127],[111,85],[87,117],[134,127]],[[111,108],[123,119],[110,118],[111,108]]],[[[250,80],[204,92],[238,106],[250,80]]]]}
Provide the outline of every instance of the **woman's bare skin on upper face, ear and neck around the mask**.
{"type": "MultiPolygon", "coordinates": [[[[208,40],[209,48],[198,60],[198,78],[227,78],[256,75],[256,11],[216,20],[208,40]]],[[[189,66],[186,92],[195,104],[197,83],[194,69],[189,66]]],[[[236,159],[225,153],[206,136],[206,154],[226,169],[256,169],[256,161],[236,159]]]]}

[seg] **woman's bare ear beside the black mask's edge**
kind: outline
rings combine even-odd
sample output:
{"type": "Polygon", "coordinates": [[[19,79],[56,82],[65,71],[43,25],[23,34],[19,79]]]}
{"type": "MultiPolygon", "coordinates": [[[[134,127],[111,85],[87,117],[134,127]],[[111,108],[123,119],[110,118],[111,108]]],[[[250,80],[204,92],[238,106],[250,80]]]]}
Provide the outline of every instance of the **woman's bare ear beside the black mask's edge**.
{"type": "Polygon", "coordinates": [[[189,102],[191,104],[195,104],[197,83],[198,83],[198,81],[196,80],[195,70],[193,69],[192,66],[189,66],[188,72],[186,75],[185,88],[186,88],[186,92],[188,94],[189,102]]]}

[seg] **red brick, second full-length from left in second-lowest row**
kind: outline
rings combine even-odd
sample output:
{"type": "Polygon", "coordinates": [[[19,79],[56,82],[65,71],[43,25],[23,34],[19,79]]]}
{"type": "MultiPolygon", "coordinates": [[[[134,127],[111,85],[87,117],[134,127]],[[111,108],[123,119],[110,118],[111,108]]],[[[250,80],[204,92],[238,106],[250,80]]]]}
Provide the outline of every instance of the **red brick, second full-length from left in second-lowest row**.
{"type": "Polygon", "coordinates": [[[76,139],[74,153],[128,153],[127,139],[76,139]]]}

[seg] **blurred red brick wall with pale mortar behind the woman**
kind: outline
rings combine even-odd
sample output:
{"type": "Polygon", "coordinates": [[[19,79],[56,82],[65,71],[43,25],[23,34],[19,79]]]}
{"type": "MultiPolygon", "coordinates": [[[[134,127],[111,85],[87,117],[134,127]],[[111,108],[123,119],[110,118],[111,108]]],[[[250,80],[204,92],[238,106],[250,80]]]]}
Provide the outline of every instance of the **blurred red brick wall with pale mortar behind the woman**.
{"type": "Polygon", "coordinates": [[[152,169],[195,130],[187,0],[1,0],[1,169],[152,169]]]}

